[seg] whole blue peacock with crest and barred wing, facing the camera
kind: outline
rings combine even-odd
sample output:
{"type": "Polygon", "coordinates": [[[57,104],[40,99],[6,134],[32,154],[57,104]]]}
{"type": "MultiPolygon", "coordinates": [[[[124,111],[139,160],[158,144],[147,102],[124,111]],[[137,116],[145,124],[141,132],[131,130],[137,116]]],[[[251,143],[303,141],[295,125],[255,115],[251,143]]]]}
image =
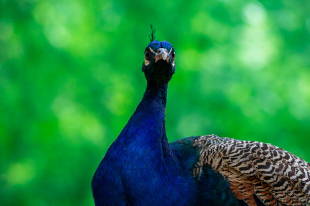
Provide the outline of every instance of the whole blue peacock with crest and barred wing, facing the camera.
{"type": "Polygon", "coordinates": [[[309,205],[310,164],[284,149],[216,135],[168,143],[175,49],[153,29],[150,41],[145,93],[93,176],[95,205],[309,205]]]}

